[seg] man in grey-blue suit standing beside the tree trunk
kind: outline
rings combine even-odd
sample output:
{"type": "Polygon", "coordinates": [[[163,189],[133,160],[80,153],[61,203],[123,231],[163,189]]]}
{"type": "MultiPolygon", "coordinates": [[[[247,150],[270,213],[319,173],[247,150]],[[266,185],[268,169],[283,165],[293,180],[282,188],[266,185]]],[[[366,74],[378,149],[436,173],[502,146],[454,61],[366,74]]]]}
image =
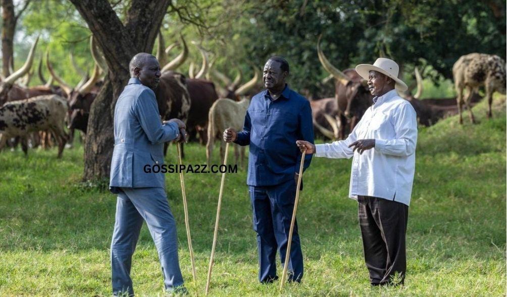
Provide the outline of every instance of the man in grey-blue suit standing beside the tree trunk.
{"type": "Polygon", "coordinates": [[[145,165],[162,165],[163,143],[180,140],[185,124],[161,122],[153,88],[160,80],[157,59],[146,53],[129,64],[130,80],[115,107],[115,149],[111,162],[110,190],[118,194],[111,242],[113,294],[133,295],[130,268],[139,231],[146,221],[157,247],[165,290],[182,292],[176,223],[172,216],[162,173],[145,173],[145,165]]]}

